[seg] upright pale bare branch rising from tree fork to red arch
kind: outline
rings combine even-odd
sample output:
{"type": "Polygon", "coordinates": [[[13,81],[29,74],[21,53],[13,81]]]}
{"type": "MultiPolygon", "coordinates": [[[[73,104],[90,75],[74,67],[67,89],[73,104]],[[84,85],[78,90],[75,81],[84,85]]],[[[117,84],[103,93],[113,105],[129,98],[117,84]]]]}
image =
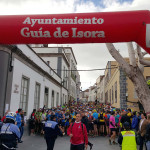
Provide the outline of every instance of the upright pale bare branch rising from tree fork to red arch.
{"type": "Polygon", "coordinates": [[[130,65],[132,65],[133,67],[136,67],[135,51],[134,51],[132,42],[128,42],[127,46],[128,46],[130,65]]]}

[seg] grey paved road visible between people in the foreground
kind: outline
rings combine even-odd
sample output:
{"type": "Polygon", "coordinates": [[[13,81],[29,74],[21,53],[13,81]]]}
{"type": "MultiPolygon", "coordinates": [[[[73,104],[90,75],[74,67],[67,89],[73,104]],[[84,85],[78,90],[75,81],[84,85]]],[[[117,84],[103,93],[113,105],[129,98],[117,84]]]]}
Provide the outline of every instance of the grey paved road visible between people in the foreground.
{"type": "MultiPolygon", "coordinates": [[[[23,143],[18,145],[18,150],[46,150],[46,143],[41,136],[25,136],[23,143]]],[[[93,150],[120,150],[118,145],[109,145],[108,138],[96,137],[89,138],[89,141],[94,144],[93,150]]],[[[69,150],[69,137],[59,137],[56,140],[54,150],[69,150]]],[[[89,148],[88,148],[89,150],[89,148]]]]}

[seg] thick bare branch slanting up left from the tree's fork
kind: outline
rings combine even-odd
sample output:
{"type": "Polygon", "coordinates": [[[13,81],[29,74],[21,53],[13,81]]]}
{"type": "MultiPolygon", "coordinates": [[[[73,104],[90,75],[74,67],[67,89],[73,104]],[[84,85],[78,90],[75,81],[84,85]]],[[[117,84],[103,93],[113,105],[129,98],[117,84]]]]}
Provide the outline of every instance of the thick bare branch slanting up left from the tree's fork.
{"type": "Polygon", "coordinates": [[[120,55],[112,43],[106,43],[107,49],[112,55],[112,57],[120,64],[124,71],[129,74],[131,72],[130,65],[125,61],[125,59],[120,55]]]}

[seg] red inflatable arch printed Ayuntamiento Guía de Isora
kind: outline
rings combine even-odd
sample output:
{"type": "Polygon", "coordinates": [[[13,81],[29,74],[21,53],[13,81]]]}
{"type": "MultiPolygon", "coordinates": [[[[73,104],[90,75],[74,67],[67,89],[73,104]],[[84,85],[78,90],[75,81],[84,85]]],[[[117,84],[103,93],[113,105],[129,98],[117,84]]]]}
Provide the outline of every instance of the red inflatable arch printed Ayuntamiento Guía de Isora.
{"type": "Polygon", "coordinates": [[[150,53],[150,12],[0,16],[1,44],[138,43],[150,53]]]}

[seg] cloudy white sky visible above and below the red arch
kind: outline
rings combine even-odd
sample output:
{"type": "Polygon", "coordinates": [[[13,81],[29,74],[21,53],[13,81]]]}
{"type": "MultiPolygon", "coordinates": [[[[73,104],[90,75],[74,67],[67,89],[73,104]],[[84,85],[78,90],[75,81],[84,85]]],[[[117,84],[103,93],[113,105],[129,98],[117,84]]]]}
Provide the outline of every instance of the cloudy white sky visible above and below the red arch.
{"type": "MultiPolygon", "coordinates": [[[[0,6],[0,15],[61,14],[149,10],[150,0],[0,0],[0,6]]],[[[125,43],[115,45],[124,57],[128,56],[125,43]]],[[[73,47],[78,69],[105,68],[107,62],[113,60],[105,44],[67,44],[67,46],[73,47]]],[[[80,72],[82,89],[93,85],[96,78],[103,73],[103,71],[80,72]]]]}

